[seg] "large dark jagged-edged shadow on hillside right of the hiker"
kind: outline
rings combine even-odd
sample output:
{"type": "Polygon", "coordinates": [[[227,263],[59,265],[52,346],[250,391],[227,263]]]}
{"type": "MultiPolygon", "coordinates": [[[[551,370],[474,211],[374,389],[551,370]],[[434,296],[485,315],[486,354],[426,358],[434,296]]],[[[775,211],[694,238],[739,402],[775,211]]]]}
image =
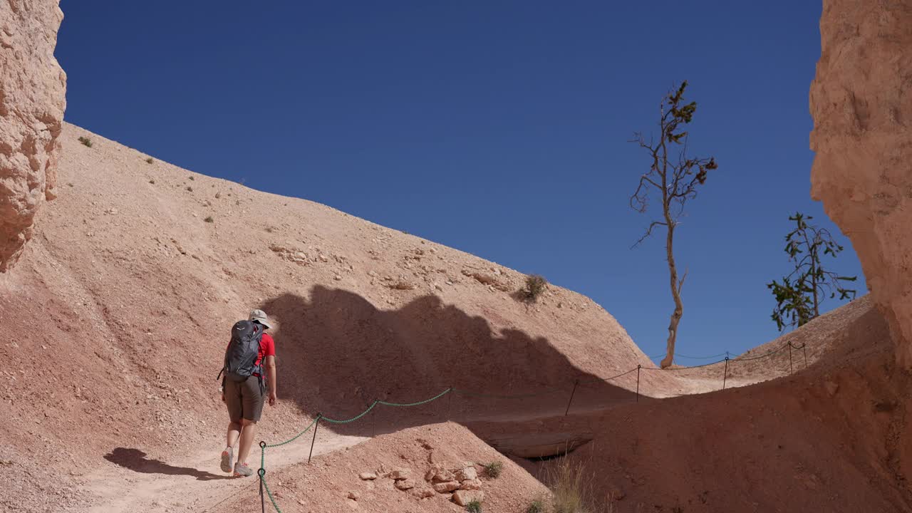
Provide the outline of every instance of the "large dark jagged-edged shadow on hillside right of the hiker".
{"type": "Polygon", "coordinates": [[[358,294],[317,286],[309,299],[285,294],[261,308],[279,324],[280,398],[311,416],[347,419],[375,399],[412,403],[451,386],[483,394],[544,393],[521,399],[451,393],[416,407],[379,405],[358,422],[321,423],[320,429],[370,435],[445,420],[562,415],[577,379],[589,382],[575,393],[581,407],[634,400],[626,389],[580,372],[548,340],[521,330],[495,332],[486,319],[433,295],[385,311],[358,294]]]}

